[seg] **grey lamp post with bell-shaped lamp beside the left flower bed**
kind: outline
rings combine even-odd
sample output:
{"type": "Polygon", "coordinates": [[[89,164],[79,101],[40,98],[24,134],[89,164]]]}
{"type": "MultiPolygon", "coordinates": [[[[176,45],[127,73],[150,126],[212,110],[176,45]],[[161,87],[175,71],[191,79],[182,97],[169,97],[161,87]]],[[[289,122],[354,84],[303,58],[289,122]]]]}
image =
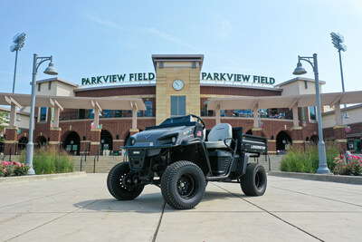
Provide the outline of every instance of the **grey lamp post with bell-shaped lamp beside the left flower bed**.
{"type": "Polygon", "coordinates": [[[32,101],[30,104],[30,124],[29,124],[29,141],[26,144],[26,160],[27,166],[30,166],[28,175],[34,175],[35,170],[33,169],[33,121],[34,121],[34,110],[35,110],[35,89],[36,89],[36,73],[38,73],[39,66],[46,61],[51,61],[49,66],[45,69],[45,74],[57,75],[57,71],[52,63],[52,56],[50,57],[38,57],[36,53],[33,54],[33,80],[32,80],[32,101]],[[38,63],[39,60],[39,63],[38,63]]]}

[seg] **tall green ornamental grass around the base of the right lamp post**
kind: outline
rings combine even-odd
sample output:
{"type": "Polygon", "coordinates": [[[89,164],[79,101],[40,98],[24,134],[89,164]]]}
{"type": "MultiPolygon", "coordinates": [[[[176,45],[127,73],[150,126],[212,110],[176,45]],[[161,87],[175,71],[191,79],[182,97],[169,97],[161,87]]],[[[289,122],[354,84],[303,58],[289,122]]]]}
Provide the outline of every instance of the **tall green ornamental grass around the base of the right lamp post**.
{"type": "MultiPolygon", "coordinates": [[[[333,170],[333,161],[339,156],[339,150],[333,144],[326,144],[327,165],[333,170]]],[[[281,160],[281,171],[316,173],[319,168],[319,151],[317,146],[306,146],[305,150],[291,150],[281,160]]]]}

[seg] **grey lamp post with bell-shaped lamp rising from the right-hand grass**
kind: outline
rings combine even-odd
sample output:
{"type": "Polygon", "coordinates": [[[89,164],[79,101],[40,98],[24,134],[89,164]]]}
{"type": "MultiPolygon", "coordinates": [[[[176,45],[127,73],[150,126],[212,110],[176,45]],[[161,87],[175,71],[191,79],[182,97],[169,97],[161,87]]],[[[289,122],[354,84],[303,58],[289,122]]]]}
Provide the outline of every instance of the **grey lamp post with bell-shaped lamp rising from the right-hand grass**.
{"type": "Polygon", "coordinates": [[[326,146],[323,141],[323,130],[322,130],[322,115],[320,110],[320,93],[319,93],[319,73],[318,73],[318,62],[317,62],[317,53],[313,53],[313,57],[300,57],[298,55],[297,68],[295,68],[293,74],[301,75],[307,73],[304,67],[301,65],[300,61],[305,61],[310,63],[314,72],[314,79],[316,83],[316,100],[317,100],[317,121],[318,121],[318,133],[319,133],[319,142],[318,142],[318,151],[319,151],[319,169],[317,173],[324,174],[330,173],[327,166],[327,157],[326,157],[326,146]]]}

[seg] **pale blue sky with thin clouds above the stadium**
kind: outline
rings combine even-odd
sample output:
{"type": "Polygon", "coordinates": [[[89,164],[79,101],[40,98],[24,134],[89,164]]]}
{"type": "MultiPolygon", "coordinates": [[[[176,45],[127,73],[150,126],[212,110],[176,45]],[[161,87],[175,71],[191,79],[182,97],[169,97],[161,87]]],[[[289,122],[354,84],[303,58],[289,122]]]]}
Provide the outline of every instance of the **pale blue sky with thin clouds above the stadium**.
{"type": "MultiPolygon", "coordinates": [[[[59,77],[154,72],[151,54],[205,54],[203,72],[294,78],[298,55],[318,53],[322,92],[341,92],[338,32],[346,91],[361,91],[362,2],[277,1],[26,1],[0,2],[0,92],[12,92],[13,36],[26,33],[15,92],[30,93],[33,53],[53,55],[59,77]]],[[[309,72],[305,77],[314,78],[309,72]]],[[[40,67],[37,79],[47,64],[40,67]]]]}

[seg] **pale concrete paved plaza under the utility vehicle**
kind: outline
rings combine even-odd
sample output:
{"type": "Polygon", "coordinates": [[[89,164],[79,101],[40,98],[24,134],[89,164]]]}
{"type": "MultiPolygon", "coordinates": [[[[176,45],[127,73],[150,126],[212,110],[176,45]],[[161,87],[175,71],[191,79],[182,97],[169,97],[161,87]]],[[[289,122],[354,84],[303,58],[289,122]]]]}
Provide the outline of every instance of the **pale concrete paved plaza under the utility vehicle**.
{"type": "Polygon", "coordinates": [[[165,206],[147,186],[112,198],[107,174],[0,184],[0,241],[357,241],[362,186],[270,176],[262,197],[209,182],[194,209],[165,206]]]}

